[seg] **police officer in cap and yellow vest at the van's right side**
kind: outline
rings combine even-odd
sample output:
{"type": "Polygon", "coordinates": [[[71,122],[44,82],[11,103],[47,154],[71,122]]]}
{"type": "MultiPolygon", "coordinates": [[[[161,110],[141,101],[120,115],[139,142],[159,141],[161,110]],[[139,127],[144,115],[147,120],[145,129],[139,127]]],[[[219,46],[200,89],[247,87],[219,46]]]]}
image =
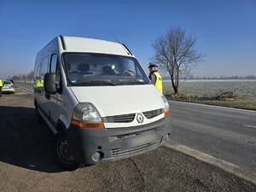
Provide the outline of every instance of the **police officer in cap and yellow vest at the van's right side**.
{"type": "Polygon", "coordinates": [[[163,85],[162,85],[162,78],[160,76],[160,73],[157,72],[158,70],[158,65],[153,63],[153,62],[149,62],[149,76],[148,78],[151,80],[152,84],[154,84],[154,86],[160,90],[161,93],[163,93],[163,85]]]}

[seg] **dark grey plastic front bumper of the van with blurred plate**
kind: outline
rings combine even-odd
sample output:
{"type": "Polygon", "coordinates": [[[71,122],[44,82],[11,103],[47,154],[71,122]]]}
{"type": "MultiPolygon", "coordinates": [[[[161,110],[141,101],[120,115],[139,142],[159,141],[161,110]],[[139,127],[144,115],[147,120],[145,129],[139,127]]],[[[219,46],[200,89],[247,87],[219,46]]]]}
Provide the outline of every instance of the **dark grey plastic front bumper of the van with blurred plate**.
{"type": "Polygon", "coordinates": [[[85,165],[143,154],[166,143],[170,134],[170,115],[148,125],[112,129],[71,125],[66,131],[73,158],[85,165]]]}

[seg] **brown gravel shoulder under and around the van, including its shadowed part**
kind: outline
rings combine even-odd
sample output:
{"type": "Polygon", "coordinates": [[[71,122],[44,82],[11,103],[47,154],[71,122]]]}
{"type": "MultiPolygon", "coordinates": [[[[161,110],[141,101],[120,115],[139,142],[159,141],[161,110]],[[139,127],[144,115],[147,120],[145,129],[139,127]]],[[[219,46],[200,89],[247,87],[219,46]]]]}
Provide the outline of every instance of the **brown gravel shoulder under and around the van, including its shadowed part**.
{"type": "Polygon", "coordinates": [[[0,191],[256,191],[256,185],[171,148],[65,172],[33,95],[0,97],[0,191]]]}

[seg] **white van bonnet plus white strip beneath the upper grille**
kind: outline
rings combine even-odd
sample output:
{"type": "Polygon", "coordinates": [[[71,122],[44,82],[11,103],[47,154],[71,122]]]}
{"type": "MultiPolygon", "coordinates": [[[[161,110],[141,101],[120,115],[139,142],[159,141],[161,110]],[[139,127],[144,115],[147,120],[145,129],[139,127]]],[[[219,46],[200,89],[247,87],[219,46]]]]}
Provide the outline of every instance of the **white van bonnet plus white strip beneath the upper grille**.
{"type": "MultiPolygon", "coordinates": [[[[130,85],[129,87],[72,87],[71,90],[79,102],[92,103],[102,117],[143,113],[164,108],[160,91],[153,84],[130,85]]],[[[143,123],[138,123],[135,118],[131,123],[105,123],[104,125],[106,128],[146,125],[162,118],[164,118],[163,114],[153,119],[144,117],[143,123]]]]}

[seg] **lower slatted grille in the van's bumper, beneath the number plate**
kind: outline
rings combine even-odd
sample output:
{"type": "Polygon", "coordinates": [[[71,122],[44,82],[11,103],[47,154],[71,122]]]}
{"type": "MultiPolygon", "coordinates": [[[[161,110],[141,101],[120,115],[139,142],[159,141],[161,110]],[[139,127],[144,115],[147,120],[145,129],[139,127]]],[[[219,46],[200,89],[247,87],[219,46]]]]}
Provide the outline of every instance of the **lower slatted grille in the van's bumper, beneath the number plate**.
{"type": "Polygon", "coordinates": [[[121,155],[125,155],[125,154],[131,154],[131,153],[136,153],[136,152],[140,152],[143,150],[147,150],[148,148],[154,146],[154,145],[158,145],[159,143],[161,143],[162,138],[160,139],[160,141],[154,142],[154,143],[148,143],[148,144],[144,144],[141,145],[139,147],[136,148],[128,148],[128,149],[122,149],[122,148],[113,148],[112,151],[112,156],[113,157],[117,157],[117,156],[121,156],[121,155]]]}

